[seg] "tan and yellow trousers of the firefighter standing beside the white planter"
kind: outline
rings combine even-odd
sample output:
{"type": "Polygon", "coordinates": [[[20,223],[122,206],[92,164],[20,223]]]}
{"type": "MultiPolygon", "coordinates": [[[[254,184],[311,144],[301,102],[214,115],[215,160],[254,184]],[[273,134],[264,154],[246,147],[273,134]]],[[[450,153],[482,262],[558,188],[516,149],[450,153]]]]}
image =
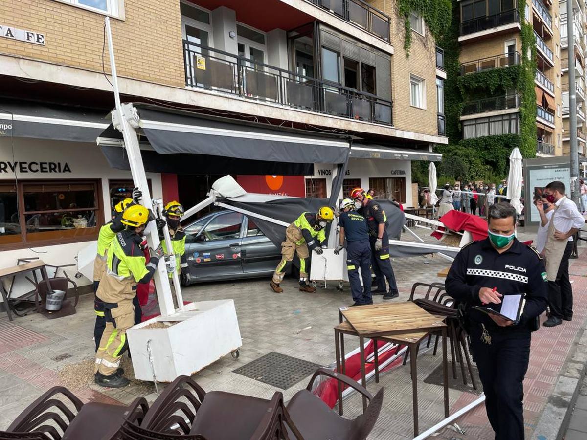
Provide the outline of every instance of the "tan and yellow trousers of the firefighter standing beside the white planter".
{"type": "Polygon", "coordinates": [[[109,376],[116,373],[120,366],[120,358],[129,347],[126,330],[134,324],[133,300],[104,303],[104,317],[106,328],[96,353],[95,373],[109,376]]]}

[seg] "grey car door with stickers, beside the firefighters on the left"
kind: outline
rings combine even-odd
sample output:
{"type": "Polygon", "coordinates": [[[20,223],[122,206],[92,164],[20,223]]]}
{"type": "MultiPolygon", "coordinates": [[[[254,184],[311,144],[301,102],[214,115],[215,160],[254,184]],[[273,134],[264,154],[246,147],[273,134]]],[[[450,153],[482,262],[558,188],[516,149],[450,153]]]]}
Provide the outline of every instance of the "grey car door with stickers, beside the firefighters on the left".
{"type": "MultiPolygon", "coordinates": [[[[241,228],[243,215],[221,211],[203,225],[187,228],[185,251],[194,280],[218,280],[242,274],[241,228]]],[[[193,225],[192,225],[193,226],[193,225]]]]}

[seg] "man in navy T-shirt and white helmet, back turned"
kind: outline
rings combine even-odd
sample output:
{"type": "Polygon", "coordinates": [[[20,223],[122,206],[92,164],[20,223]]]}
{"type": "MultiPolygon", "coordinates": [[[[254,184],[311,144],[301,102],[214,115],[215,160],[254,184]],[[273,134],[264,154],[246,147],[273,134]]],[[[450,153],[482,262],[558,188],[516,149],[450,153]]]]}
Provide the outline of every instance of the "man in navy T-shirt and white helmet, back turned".
{"type": "Polygon", "coordinates": [[[355,304],[363,306],[373,304],[371,296],[371,246],[365,217],[354,211],[355,202],[344,199],[340,204],[342,213],[338,218],[339,245],[334,253],[338,255],[344,248],[346,238],[346,269],[349,272],[350,292],[355,304]],[[359,268],[363,278],[363,286],[359,280],[359,268]]]}

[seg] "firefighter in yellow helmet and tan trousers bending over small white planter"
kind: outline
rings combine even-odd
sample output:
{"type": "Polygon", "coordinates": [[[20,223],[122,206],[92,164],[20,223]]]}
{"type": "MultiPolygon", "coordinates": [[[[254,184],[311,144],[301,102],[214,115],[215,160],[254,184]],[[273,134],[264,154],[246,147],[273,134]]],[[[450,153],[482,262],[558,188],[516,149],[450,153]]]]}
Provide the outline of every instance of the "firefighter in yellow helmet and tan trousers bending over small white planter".
{"type": "Polygon", "coordinates": [[[273,274],[269,286],[275,293],[284,291],[279,283],[284,279],[285,266],[299,257],[299,290],[313,293],[316,289],[308,284],[310,253],[315,249],[318,255],[326,248],[326,226],[334,219],[334,211],[322,207],[318,212],[302,212],[302,214],[285,230],[285,241],[281,243],[281,261],[273,274]]]}

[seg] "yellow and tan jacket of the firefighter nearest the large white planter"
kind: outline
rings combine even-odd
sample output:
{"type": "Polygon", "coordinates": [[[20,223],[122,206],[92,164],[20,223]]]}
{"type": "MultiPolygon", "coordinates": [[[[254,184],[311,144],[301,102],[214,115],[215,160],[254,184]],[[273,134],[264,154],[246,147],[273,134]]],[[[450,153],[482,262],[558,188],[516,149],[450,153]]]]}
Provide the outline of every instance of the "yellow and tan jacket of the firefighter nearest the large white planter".
{"type": "Polygon", "coordinates": [[[157,259],[146,263],[143,239],[130,229],[118,232],[108,248],[106,274],[100,280],[97,297],[106,303],[133,299],[137,283],[148,283],[157,269],[157,259]]]}

